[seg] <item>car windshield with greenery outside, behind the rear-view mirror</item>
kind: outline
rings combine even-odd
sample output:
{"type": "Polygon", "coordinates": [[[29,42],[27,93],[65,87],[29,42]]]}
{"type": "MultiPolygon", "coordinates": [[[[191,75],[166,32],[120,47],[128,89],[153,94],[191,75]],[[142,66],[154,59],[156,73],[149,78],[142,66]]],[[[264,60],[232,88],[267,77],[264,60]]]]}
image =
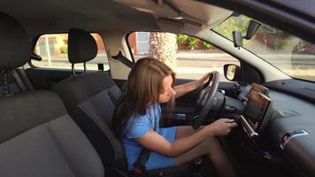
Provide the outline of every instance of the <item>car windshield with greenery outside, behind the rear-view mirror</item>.
{"type": "MultiPolygon", "coordinates": [[[[212,30],[233,41],[232,32],[241,31],[245,35],[249,21],[243,15],[231,16],[212,30]]],[[[243,41],[243,48],[291,77],[315,81],[315,44],[264,23],[261,25],[252,39],[243,41]]]]}

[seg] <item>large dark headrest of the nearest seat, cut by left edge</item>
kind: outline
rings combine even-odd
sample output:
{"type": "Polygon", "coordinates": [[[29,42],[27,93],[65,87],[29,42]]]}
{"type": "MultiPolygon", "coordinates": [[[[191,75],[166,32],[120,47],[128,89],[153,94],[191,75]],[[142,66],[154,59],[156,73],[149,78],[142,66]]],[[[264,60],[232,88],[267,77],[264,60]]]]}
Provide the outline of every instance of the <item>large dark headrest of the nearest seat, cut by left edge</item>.
{"type": "Polygon", "coordinates": [[[25,29],[17,20],[0,12],[0,70],[8,71],[26,64],[30,54],[25,29]]]}

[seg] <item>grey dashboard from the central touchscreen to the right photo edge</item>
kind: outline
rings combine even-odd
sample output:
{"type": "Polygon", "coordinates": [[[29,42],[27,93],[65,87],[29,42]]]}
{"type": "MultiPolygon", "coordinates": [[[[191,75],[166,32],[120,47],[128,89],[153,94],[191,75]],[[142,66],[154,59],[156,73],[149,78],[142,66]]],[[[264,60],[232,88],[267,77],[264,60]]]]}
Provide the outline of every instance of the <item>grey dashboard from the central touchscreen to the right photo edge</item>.
{"type": "Polygon", "coordinates": [[[260,150],[276,150],[302,176],[315,176],[315,105],[258,84],[234,88],[245,104],[238,121],[250,141],[267,140],[273,147],[260,150]]]}

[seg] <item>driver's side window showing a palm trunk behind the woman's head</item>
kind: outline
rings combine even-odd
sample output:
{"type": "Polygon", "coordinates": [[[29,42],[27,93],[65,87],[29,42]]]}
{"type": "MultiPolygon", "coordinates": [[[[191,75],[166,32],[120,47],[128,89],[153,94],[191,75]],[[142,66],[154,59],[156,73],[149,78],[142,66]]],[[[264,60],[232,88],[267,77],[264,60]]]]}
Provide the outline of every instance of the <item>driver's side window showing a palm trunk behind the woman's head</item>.
{"type": "Polygon", "coordinates": [[[135,60],[145,57],[160,59],[181,79],[199,79],[204,73],[218,71],[221,81],[227,81],[223,65],[240,65],[239,60],[226,52],[189,35],[134,32],[128,35],[127,40],[135,60]]]}

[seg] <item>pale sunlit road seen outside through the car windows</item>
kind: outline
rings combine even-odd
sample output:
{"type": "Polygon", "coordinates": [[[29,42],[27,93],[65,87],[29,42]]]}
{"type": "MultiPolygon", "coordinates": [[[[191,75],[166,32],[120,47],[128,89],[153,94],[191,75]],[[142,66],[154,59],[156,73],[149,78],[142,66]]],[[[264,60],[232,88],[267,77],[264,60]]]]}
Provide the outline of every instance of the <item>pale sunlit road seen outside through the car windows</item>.
{"type": "MultiPolygon", "coordinates": [[[[142,58],[145,56],[135,56],[134,58],[142,58]]],[[[310,59],[303,60],[303,65],[296,64],[291,65],[290,57],[286,55],[277,55],[277,56],[264,56],[265,58],[277,58],[271,60],[273,65],[276,67],[282,68],[284,73],[288,73],[293,77],[298,77],[301,79],[315,81],[315,57],[308,56],[310,59]],[[306,65],[306,67],[305,67],[306,65]]],[[[88,62],[88,69],[97,69],[98,63],[103,63],[105,69],[109,69],[108,61],[105,55],[99,55],[92,61],[88,62]]],[[[219,71],[222,75],[222,81],[225,79],[223,76],[223,65],[226,64],[235,64],[239,65],[238,60],[225,53],[177,53],[177,66],[173,67],[175,73],[179,78],[189,78],[189,79],[198,79],[204,73],[211,71],[219,71]]],[[[63,67],[71,68],[71,65],[68,63],[66,56],[64,58],[52,58],[54,67],[63,67]]],[[[33,62],[37,66],[46,66],[50,67],[48,64],[47,58],[43,58],[41,62],[33,62]]],[[[82,65],[76,65],[76,68],[82,69],[82,65]]]]}

